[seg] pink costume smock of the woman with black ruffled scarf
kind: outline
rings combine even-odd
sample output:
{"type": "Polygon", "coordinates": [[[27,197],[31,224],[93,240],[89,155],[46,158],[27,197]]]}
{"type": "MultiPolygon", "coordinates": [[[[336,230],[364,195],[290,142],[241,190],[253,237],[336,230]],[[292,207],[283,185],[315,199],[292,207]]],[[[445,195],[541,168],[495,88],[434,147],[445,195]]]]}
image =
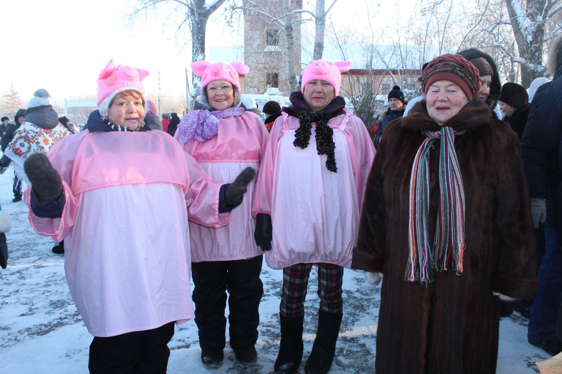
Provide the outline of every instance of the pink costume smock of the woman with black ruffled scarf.
{"type": "Polygon", "coordinates": [[[338,169],[333,173],[327,156],[316,150],[315,124],[309,146],[293,145],[299,126],[287,113],[275,120],[257,176],[252,215],[270,214],[273,223],[266,263],[273,269],[301,262],[350,268],[373,142],[350,112],[330,119],[338,169]]]}

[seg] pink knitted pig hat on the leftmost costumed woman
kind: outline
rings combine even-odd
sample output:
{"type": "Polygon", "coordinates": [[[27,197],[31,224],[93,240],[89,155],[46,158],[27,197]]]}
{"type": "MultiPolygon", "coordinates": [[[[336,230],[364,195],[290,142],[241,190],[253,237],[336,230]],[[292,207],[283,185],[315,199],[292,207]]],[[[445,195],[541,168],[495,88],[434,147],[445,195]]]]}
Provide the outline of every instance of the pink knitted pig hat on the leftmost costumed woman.
{"type": "MultiPolygon", "coordinates": [[[[117,65],[113,59],[99,72],[98,109],[102,117],[107,117],[111,101],[117,94],[126,90],[135,90],[144,94],[142,81],[150,72],[130,66],[117,65]]],[[[146,105],[146,104],[145,104],[146,105]]]]}

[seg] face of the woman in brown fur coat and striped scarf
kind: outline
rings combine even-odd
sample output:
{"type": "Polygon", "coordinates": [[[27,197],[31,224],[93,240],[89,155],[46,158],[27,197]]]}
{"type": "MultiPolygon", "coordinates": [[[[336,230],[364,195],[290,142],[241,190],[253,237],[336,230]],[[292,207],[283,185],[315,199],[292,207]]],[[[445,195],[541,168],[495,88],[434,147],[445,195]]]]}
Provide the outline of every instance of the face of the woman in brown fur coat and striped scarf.
{"type": "Polygon", "coordinates": [[[427,112],[440,125],[445,124],[459,110],[468,104],[468,98],[459,86],[451,81],[437,81],[429,86],[427,94],[427,112]]]}

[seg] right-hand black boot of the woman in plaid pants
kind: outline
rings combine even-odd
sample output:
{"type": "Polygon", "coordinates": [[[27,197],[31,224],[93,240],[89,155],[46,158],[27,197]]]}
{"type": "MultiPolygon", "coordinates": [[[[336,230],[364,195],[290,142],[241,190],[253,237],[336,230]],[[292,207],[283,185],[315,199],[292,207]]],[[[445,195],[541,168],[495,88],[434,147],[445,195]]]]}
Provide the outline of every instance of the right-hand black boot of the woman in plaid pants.
{"type": "Polygon", "coordinates": [[[312,345],[312,352],[306,360],[306,374],[326,374],[330,371],[341,323],[342,313],[318,312],[318,331],[312,345]]]}

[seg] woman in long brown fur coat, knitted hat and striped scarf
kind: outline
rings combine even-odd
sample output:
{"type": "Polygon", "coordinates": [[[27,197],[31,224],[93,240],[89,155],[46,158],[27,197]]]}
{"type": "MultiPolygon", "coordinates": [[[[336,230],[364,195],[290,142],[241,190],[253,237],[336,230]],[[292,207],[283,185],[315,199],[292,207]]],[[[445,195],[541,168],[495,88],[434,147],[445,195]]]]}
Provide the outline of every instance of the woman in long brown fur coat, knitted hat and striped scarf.
{"type": "Polygon", "coordinates": [[[464,57],[434,58],[377,149],[351,264],[384,275],[377,374],[495,373],[500,299],[537,292],[519,140],[480,85],[464,57]]]}

